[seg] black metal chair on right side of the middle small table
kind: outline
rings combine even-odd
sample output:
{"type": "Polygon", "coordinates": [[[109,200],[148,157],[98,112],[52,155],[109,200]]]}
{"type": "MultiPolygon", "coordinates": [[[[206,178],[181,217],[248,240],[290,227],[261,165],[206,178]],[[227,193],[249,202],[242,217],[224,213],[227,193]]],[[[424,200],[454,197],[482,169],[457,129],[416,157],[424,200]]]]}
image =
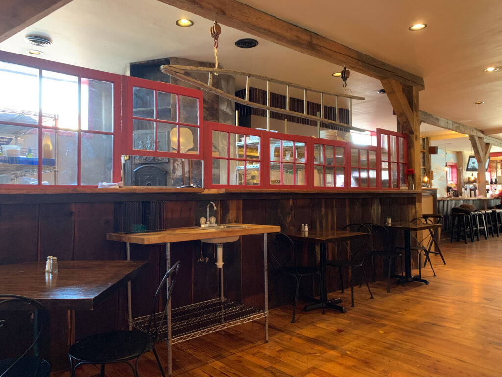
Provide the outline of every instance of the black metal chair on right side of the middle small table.
{"type": "MultiPolygon", "coordinates": [[[[346,267],[350,270],[350,288],[352,290],[352,305],[354,307],[354,270],[356,268],[360,268],[362,271],[362,276],[364,281],[366,282],[366,287],[368,287],[369,298],[372,299],[373,295],[371,294],[371,290],[369,289],[368,280],[366,278],[366,274],[364,273],[363,264],[366,259],[370,256],[370,237],[371,230],[363,225],[363,224],[348,224],[343,227],[343,230],[349,230],[353,232],[364,232],[368,234],[369,239],[364,239],[364,237],[360,237],[359,239],[352,239],[350,242],[343,241],[342,244],[349,252],[349,259],[337,259],[337,260],[328,260],[326,264],[328,266],[338,267],[338,273],[340,275],[340,284],[343,293],[343,275],[342,275],[342,267],[346,267]]],[[[362,282],[359,286],[362,286],[362,282]]]]}

